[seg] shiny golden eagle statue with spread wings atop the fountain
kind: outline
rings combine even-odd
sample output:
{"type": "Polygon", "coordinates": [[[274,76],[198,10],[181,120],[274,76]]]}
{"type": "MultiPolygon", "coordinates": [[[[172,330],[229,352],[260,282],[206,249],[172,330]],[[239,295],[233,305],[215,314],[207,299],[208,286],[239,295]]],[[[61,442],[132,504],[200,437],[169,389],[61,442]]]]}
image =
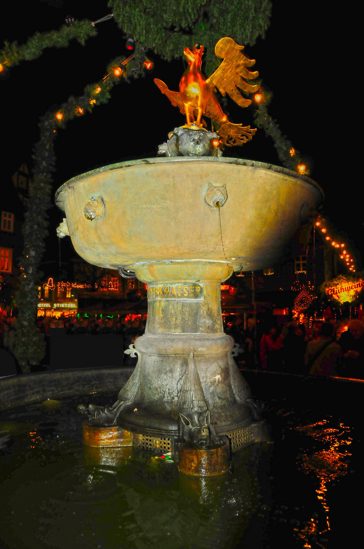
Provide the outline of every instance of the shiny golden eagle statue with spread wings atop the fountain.
{"type": "Polygon", "coordinates": [[[248,59],[243,54],[243,49],[244,46],[239,46],[232,38],[221,38],[215,46],[215,54],[223,61],[206,79],[201,72],[203,46],[197,48],[196,44],[192,51],[189,48],[183,51],[188,67],[180,80],[179,92],[170,91],[162,80],[154,80],[172,105],[186,115],[187,127],[203,127],[201,117],[206,115],[220,125],[217,133],[221,142],[228,147],[246,143],[257,131],[250,126],[229,122],[215,94],[218,88],[221,95],[225,96],[227,93],[240,107],[248,107],[252,103],[251,99],[242,96],[239,88],[249,93],[256,92],[259,86],[253,86],[246,80],[256,79],[259,73],[247,70],[247,67],[254,65],[255,59],[248,59]]]}

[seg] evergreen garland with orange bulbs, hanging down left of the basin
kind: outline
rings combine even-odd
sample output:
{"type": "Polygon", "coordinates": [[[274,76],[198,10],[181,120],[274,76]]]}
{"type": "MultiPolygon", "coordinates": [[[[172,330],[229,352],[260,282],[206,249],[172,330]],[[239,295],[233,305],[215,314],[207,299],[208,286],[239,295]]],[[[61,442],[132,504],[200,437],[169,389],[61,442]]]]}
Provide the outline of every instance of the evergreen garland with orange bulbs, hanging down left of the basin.
{"type": "Polygon", "coordinates": [[[48,210],[52,207],[52,173],[56,158],[54,141],[59,128],[75,117],[92,112],[96,105],[107,103],[110,89],[128,75],[140,76],[150,67],[151,61],[139,61],[131,55],[128,59],[116,58],[107,68],[107,74],[100,82],[84,88],[81,97],[70,97],[59,109],[47,113],[40,119],[40,137],[33,150],[35,161],[27,203],[27,211],[22,225],[24,251],[20,259],[22,277],[20,289],[15,294],[18,307],[14,355],[22,372],[29,372],[30,365],[38,364],[44,357],[45,342],[37,332],[38,281],[41,278],[39,264],[45,252],[45,238],[48,235],[48,210]],[[127,67],[128,65],[128,67],[127,67]],[[128,68],[128,71],[127,71],[128,68]]]}

